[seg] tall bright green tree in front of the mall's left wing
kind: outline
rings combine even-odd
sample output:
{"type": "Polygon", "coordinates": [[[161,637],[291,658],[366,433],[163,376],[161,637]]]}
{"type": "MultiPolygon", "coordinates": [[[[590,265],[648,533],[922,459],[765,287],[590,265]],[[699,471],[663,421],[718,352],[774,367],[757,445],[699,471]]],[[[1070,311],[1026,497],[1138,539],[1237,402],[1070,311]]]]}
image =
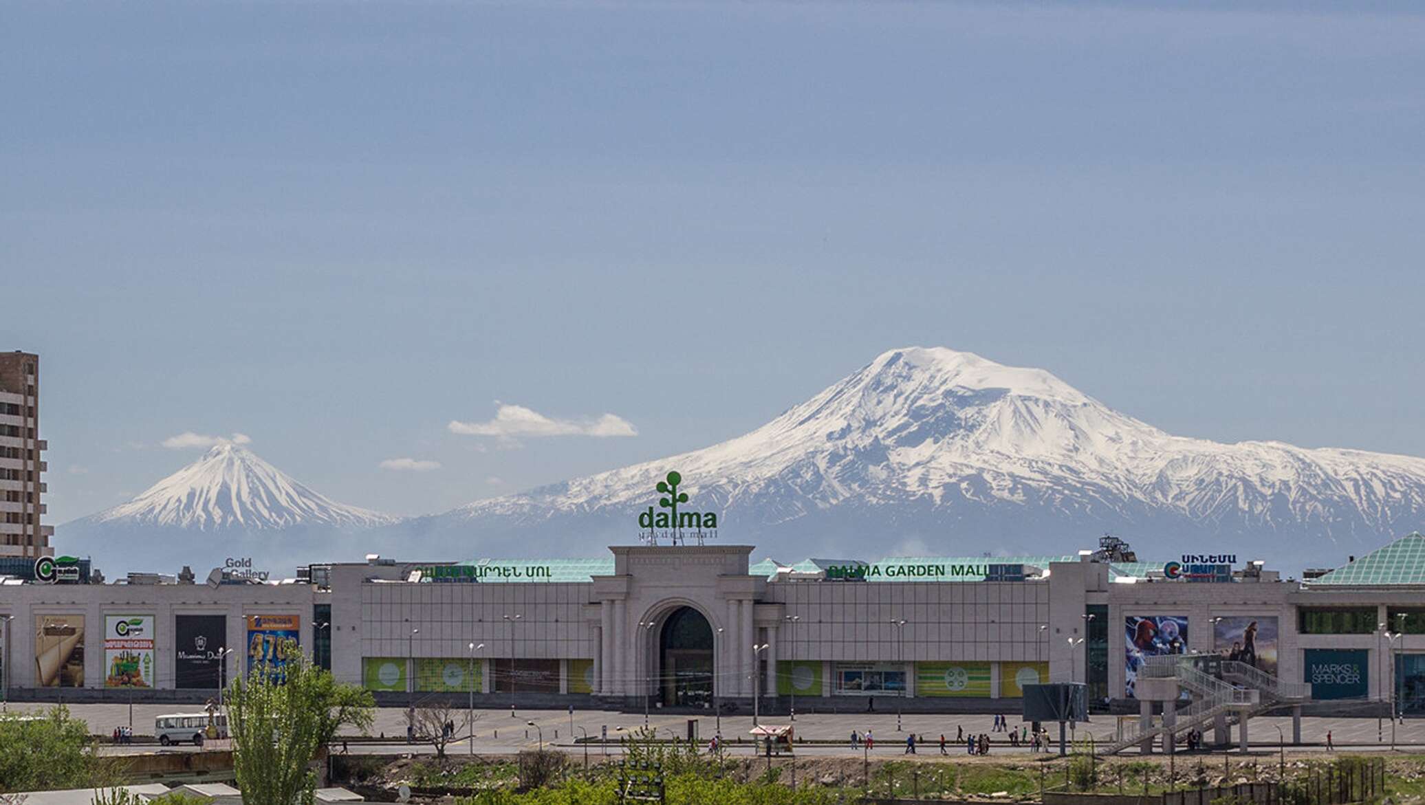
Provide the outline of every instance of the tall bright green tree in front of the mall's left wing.
{"type": "Polygon", "coordinates": [[[314,762],[342,727],[366,731],[370,692],[336,682],[304,657],[288,657],[282,674],[255,668],[228,685],[228,732],[234,772],[247,805],[311,805],[314,762]]]}

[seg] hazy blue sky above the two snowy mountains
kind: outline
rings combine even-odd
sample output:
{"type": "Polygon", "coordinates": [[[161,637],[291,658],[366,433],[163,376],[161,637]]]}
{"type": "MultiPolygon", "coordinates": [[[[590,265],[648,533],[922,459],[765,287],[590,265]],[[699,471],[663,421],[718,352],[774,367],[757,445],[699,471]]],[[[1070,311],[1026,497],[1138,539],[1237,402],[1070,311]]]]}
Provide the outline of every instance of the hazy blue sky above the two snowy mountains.
{"type": "Polygon", "coordinates": [[[1425,455],[1416,4],[0,14],[0,349],[43,353],[53,523],[182,432],[445,510],[912,343],[1181,435],[1425,455]],[[447,427],[496,400],[570,425],[447,427]],[[606,413],[637,436],[579,433],[606,413]]]}

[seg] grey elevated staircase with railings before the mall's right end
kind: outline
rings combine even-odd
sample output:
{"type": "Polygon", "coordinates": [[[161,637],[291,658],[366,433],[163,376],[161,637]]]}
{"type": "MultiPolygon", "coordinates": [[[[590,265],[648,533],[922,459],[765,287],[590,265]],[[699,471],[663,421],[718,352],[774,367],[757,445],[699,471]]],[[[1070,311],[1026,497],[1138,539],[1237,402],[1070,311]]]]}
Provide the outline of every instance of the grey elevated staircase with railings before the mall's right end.
{"type": "Polygon", "coordinates": [[[1167,735],[1176,738],[1214,721],[1218,715],[1250,717],[1278,704],[1298,704],[1311,698],[1308,684],[1282,682],[1245,663],[1210,658],[1207,665],[1221,674],[1218,678],[1198,667],[1203,660],[1206,658],[1191,654],[1150,657],[1139,668],[1139,677],[1176,678],[1178,688],[1186,688],[1193,701],[1176,712],[1173,724],[1164,724],[1161,717],[1154,718],[1146,728],[1140,721],[1123,724],[1120,734],[1103,752],[1113,755],[1144,741],[1167,735]]]}

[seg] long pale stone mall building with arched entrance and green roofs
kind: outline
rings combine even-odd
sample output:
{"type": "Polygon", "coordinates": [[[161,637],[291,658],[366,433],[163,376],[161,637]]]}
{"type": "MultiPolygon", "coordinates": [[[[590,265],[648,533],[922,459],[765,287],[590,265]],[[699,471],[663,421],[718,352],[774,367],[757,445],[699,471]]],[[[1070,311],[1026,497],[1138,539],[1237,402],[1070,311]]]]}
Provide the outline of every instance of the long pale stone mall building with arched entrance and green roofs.
{"type": "MultiPolygon", "coordinates": [[[[1156,654],[1218,654],[1315,702],[1425,711],[1425,537],[1305,580],[1233,556],[752,561],[750,546],[616,546],[589,560],[241,567],[208,581],[80,568],[0,583],[10,698],[204,698],[298,645],[382,701],[506,707],[996,708],[1022,687],[1133,697],[1156,654]],[[879,704],[878,704],[879,702],[879,704]],[[1377,705],[1382,707],[1382,705],[1377,705]]],[[[24,576],[24,574],[20,574],[24,576]]],[[[1006,701],[1009,700],[1009,701],[1006,701]]]]}

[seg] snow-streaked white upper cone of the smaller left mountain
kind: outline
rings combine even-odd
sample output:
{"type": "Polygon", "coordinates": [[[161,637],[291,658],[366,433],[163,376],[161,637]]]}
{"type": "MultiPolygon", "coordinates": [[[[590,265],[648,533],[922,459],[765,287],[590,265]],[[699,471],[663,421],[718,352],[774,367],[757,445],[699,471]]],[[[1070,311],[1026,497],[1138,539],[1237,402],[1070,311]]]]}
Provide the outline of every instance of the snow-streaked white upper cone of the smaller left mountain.
{"type": "Polygon", "coordinates": [[[336,503],[235,443],[209,449],[138,497],[91,520],[197,530],[361,529],[396,521],[388,514],[336,503]]]}

